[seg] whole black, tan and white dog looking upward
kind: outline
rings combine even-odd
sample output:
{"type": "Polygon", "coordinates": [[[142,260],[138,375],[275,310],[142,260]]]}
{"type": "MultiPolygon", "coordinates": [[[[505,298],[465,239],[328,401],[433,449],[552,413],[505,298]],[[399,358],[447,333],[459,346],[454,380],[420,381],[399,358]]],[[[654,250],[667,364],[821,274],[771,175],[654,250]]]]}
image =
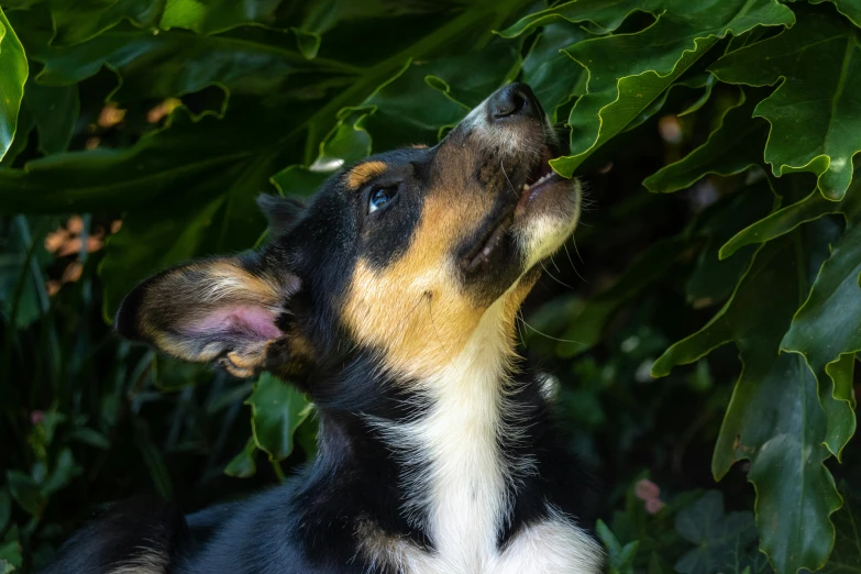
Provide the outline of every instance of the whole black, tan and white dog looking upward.
{"type": "Polygon", "coordinates": [[[117,505],[47,572],[593,574],[595,489],[516,354],[516,316],[582,189],[532,90],[503,87],[434,147],[371,156],[308,202],[263,196],[258,251],[164,271],[117,331],[317,406],[319,454],[186,519],[117,505]]]}

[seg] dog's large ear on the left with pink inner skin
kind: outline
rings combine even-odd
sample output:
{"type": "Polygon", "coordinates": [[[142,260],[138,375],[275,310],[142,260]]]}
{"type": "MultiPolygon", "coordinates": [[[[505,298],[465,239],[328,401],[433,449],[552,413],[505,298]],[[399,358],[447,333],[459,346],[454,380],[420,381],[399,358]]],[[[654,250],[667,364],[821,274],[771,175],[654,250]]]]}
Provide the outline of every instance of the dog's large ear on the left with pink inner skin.
{"type": "Polygon", "coordinates": [[[296,277],[276,276],[256,254],[180,265],[135,287],[120,305],[117,331],[196,363],[217,362],[249,377],[289,372],[291,336],[276,324],[296,277]]]}

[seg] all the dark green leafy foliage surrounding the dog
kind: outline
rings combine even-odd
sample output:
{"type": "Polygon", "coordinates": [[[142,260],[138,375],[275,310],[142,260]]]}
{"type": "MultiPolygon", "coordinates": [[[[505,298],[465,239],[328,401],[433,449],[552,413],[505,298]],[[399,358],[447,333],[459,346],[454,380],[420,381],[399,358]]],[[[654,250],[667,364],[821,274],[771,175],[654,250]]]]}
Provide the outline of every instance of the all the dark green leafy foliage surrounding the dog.
{"type": "Polygon", "coordinates": [[[194,510],[312,457],[303,397],[118,340],[119,300],[516,78],[589,188],[521,334],[610,571],[861,572],[861,0],[0,5],[0,572],[132,493],[194,510]]]}

